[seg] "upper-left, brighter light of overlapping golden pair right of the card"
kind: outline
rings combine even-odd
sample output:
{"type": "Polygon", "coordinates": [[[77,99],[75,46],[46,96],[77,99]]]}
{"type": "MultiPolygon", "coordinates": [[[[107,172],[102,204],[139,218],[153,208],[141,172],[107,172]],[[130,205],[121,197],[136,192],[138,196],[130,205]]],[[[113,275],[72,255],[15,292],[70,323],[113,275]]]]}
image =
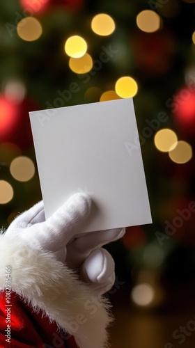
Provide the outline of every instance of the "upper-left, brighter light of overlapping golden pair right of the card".
{"type": "Polygon", "coordinates": [[[173,148],[176,148],[178,137],[171,129],[164,128],[155,134],[154,141],[155,146],[159,151],[169,152],[170,150],[173,150],[173,148]]]}

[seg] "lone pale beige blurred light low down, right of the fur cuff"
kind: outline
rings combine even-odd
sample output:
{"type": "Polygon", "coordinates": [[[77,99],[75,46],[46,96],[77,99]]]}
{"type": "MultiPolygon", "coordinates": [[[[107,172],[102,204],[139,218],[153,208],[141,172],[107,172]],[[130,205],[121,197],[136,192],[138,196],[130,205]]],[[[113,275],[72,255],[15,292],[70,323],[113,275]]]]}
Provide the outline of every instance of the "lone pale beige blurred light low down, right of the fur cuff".
{"type": "Polygon", "coordinates": [[[148,306],[155,297],[155,291],[151,285],[143,283],[133,287],[131,297],[137,305],[148,306]]]}

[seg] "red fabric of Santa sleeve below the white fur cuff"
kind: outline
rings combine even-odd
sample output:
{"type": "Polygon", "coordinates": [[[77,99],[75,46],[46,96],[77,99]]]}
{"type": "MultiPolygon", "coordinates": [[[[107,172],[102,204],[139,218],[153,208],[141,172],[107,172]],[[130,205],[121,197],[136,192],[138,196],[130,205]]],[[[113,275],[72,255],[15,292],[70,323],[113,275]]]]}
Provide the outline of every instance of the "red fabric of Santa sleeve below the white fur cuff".
{"type": "Polygon", "coordinates": [[[0,292],[0,348],[77,348],[74,338],[60,333],[42,313],[33,313],[19,295],[0,292]]]}

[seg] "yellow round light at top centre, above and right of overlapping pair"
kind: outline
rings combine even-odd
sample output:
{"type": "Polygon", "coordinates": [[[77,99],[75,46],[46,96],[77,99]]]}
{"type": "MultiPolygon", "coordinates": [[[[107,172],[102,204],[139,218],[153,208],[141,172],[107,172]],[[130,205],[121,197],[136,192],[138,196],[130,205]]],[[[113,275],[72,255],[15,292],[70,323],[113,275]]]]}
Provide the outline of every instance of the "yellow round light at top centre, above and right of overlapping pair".
{"type": "Polygon", "coordinates": [[[107,36],[111,35],[111,33],[115,30],[114,19],[106,13],[100,13],[93,17],[91,22],[91,29],[95,34],[107,36]]]}

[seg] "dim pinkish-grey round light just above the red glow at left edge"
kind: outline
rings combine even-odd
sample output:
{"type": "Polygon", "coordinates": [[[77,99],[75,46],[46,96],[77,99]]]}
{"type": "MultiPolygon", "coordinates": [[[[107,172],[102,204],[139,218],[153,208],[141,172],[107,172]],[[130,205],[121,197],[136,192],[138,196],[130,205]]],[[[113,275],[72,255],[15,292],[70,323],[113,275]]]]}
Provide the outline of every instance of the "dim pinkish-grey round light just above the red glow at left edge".
{"type": "Polygon", "coordinates": [[[26,87],[22,81],[10,80],[6,83],[4,94],[10,102],[20,104],[26,95],[26,87]]]}

